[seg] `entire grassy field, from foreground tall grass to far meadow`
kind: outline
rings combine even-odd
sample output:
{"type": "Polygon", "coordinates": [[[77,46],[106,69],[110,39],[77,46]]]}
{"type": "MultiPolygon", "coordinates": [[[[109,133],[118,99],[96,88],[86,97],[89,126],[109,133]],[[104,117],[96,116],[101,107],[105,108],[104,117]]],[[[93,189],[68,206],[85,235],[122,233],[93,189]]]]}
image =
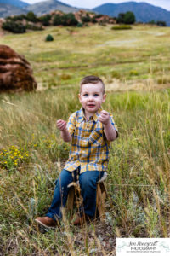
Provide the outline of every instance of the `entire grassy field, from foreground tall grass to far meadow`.
{"type": "Polygon", "coordinates": [[[170,237],[169,27],[50,27],[6,34],[31,62],[36,93],[0,95],[0,254],[116,255],[116,237],[170,237]],[[54,42],[45,42],[50,33],[54,42]],[[70,145],[56,119],[80,108],[79,80],[104,79],[105,110],[120,137],[112,143],[105,182],[105,224],[37,229],[47,211],[70,145]]]}

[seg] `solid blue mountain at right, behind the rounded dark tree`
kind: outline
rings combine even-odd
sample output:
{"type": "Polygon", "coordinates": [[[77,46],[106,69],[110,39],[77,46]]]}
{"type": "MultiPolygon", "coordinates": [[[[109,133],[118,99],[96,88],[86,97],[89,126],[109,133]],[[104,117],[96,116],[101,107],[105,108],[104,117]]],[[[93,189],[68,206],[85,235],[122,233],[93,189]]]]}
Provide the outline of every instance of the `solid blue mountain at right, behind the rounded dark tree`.
{"type": "Polygon", "coordinates": [[[105,3],[93,10],[99,14],[110,15],[112,17],[117,17],[120,13],[132,11],[136,17],[136,21],[149,22],[151,20],[161,20],[166,21],[167,26],[170,26],[170,12],[149,3],[105,3]]]}

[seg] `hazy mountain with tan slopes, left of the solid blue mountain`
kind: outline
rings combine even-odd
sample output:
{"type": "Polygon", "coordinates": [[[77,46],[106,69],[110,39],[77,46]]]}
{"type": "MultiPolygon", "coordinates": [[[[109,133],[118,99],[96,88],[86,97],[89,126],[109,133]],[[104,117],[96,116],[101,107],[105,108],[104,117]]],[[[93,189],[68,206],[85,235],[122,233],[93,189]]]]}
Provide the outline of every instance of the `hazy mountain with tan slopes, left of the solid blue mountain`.
{"type": "Polygon", "coordinates": [[[49,14],[54,10],[61,10],[65,13],[76,12],[78,9],[71,7],[71,5],[61,3],[57,0],[48,0],[44,2],[34,3],[29,5],[26,10],[34,12],[37,16],[41,16],[43,14],[49,14]]]}

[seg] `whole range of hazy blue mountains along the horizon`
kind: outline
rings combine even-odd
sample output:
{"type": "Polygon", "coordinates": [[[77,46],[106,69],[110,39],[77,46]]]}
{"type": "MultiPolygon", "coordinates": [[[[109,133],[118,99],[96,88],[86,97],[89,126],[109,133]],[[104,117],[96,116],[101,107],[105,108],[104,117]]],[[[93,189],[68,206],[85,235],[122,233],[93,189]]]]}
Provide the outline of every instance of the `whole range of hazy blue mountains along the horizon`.
{"type": "MultiPolygon", "coordinates": [[[[0,18],[9,15],[26,14],[29,11],[34,12],[37,16],[41,16],[43,14],[49,14],[54,10],[70,13],[77,12],[79,9],[57,0],[47,0],[34,4],[28,4],[20,0],[0,0],[0,18]]],[[[151,20],[161,20],[165,21],[167,26],[170,26],[170,11],[149,3],[105,3],[92,10],[96,13],[112,17],[117,17],[120,13],[132,11],[136,17],[136,21],[149,22],[151,20]]]]}

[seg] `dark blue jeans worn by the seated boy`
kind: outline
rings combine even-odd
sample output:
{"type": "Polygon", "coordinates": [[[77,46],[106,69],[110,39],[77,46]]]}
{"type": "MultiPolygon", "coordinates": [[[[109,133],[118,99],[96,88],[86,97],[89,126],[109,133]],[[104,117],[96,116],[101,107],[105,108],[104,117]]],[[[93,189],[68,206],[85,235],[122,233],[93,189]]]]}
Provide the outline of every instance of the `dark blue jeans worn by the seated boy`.
{"type": "Polygon", "coordinates": [[[81,195],[83,198],[81,211],[85,212],[88,216],[94,217],[96,210],[96,189],[97,183],[104,172],[99,171],[87,171],[80,174],[80,167],[73,172],[63,169],[60,172],[57,180],[54,198],[51,207],[48,208],[46,216],[53,218],[62,218],[61,207],[65,207],[69,188],[68,184],[71,182],[77,182],[77,175],[79,176],[79,183],[81,188],[81,195]]]}

